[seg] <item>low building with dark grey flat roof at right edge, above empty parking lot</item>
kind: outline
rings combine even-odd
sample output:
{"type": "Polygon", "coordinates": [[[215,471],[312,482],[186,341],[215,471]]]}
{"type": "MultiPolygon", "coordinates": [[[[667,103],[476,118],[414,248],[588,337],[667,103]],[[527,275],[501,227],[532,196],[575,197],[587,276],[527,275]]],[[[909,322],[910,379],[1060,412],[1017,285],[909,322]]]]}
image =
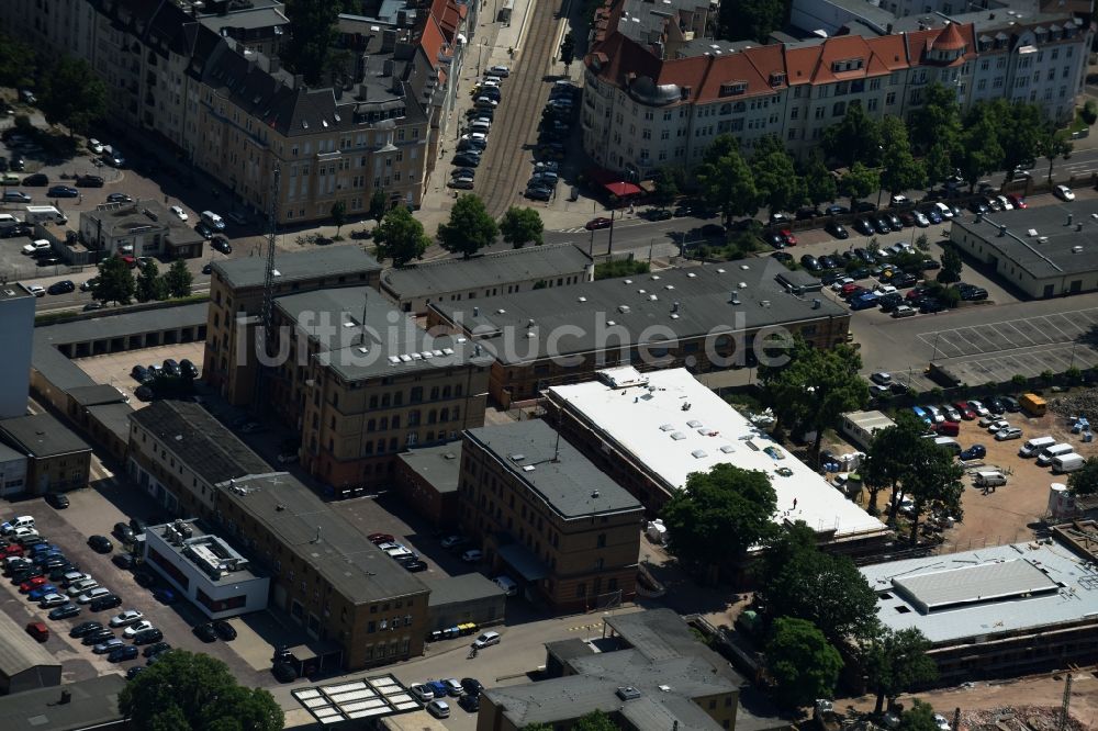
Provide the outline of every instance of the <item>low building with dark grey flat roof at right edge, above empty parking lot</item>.
{"type": "MultiPolygon", "coordinates": [[[[1089,204],[1088,204],[1089,203],[1089,204]]],[[[1052,205],[954,218],[950,240],[1029,297],[1098,290],[1098,205],[1052,205]]]]}

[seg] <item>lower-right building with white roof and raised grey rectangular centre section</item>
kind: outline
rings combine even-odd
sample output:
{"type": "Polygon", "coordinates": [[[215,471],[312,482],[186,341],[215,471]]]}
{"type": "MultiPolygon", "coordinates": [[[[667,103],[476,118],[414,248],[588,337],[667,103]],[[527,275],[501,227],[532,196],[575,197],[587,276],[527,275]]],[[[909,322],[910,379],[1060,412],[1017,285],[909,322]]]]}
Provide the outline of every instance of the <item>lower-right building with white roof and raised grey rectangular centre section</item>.
{"type": "Polygon", "coordinates": [[[1098,655],[1098,553],[1093,525],[1052,538],[862,566],[877,618],[931,642],[939,682],[1089,665],[1098,655]]]}

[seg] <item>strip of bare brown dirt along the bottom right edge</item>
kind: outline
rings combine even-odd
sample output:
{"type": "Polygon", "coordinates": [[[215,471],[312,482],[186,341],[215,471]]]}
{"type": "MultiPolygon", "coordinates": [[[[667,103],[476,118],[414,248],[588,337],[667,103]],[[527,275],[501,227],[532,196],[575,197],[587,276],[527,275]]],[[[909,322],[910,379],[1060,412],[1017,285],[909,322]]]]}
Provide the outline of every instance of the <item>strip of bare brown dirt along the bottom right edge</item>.
{"type": "MultiPolygon", "coordinates": [[[[1090,672],[1076,672],[1073,676],[1069,715],[1078,729],[1098,729],[1098,678],[1093,671],[1094,668],[1090,672]]],[[[961,728],[957,731],[970,731],[981,724],[994,728],[998,713],[989,711],[1007,712],[1009,709],[1015,709],[1017,719],[1031,718],[1031,726],[1035,729],[1043,726],[1038,720],[1052,721],[1051,726],[1043,726],[1051,731],[1056,728],[1055,721],[1058,720],[1064,679],[1065,675],[1040,675],[997,683],[974,683],[971,686],[905,696],[899,700],[909,707],[912,697],[919,698],[951,721],[954,709],[960,708],[961,728]]],[[[870,711],[873,702],[872,696],[837,700],[836,710],[854,708],[870,711]]]]}

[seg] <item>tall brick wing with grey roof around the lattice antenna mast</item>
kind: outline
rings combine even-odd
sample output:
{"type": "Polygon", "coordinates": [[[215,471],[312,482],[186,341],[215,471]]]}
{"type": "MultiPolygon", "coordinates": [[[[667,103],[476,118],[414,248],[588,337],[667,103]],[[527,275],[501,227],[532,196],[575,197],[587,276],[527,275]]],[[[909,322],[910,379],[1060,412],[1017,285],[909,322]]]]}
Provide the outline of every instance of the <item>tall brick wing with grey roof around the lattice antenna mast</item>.
{"type": "MultiPolygon", "coordinates": [[[[377,286],[381,265],[357,246],[276,255],[276,296],[322,288],[377,286]]],[[[264,301],[266,259],[226,259],[213,266],[202,378],[229,403],[255,395],[255,328],[264,301]]]]}

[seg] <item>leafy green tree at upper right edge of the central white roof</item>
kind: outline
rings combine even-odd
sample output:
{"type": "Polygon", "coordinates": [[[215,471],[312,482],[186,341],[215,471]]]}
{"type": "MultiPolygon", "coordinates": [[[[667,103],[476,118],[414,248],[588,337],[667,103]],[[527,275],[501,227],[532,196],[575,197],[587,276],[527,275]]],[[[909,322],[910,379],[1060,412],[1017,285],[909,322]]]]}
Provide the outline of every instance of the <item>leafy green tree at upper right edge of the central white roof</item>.
{"type": "Polygon", "coordinates": [[[761,366],[771,406],[780,418],[816,431],[813,456],[818,456],[824,430],[838,427],[842,414],[865,406],[869,386],[858,372],[862,358],[847,344],[825,350],[802,338],[794,341],[782,368],[761,366]]]}

